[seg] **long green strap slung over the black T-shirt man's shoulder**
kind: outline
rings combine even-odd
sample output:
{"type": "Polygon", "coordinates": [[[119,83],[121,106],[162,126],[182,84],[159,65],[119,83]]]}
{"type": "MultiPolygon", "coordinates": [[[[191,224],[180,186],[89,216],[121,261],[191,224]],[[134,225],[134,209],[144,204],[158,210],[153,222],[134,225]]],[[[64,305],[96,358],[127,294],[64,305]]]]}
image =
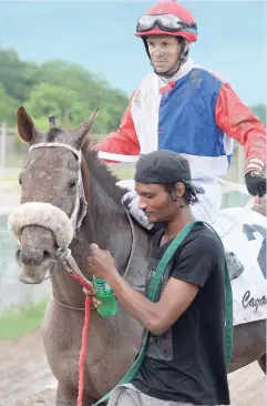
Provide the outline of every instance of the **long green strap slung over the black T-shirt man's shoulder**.
{"type": "MultiPolygon", "coordinates": [[[[156,272],[155,272],[155,274],[154,274],[154,276],[151,281],[151,284],[148,286],[147,298],[151,302],[155,302],[157,288],[160,286],[162,276],[164,275],[164,272],[166,270],[167,264],[170,263],[171,258],[173,257],[173,255],[177,251],[181,243],[187,237],[187,235],[191,233],[192,229],[196,224],[206,224],[209,229],[212,229],[215,232],[215,234],[217,234],[216,231],[213,227],[210,227],[209,224],[207,224],[205,222],[202,222],[202,221],[195,221],[193,223],[187,224],[176,235],[176,237],[173,240],[173,242],[170,244],[170,246],[165,251],[164,255],[162,256],[162,260],[161,260],[160,264],[157,265],[156,272]]],[[[223,245],[223,243],[222,243],[222,245],[223,245]]],[[[225,297],[225,314],[226,314],[226,317],[225,317],[225,322],[226,322],[226,326],[225,326],[225,353],[226,353],[226,365],[228,367],[228,365],[230,363],[232,346],[233,346],[233,296],[232,296],[232,285],[230,285],[230,278],[229,278],[229,273],[228,273],[228,268],[227,268],[226,257],[225,257],[225,296],[226,296],[225,297]]],[[[138,372],[138,369],[142,365],[142,362],[144,359],[145,352],[146,352],[146,346],[147,346],[147,343],[148,343],[148,334],[150,334],[150,332],[146,331],[145,335],[144,335],[142,348],[141,348],[134,364],[129,369],[129,372],[119,382],[119,384],[115,386],[115,388],[110,390],[104,397],[102,397],[102,399],[100,399],[99,402],[93,404],[93,406],[96,406],[100,403],[107,400],[114,389],[116,389],[119,386],[123,386],[125,384],[129,384],[133,379],[133,377],[138,372]]]]}

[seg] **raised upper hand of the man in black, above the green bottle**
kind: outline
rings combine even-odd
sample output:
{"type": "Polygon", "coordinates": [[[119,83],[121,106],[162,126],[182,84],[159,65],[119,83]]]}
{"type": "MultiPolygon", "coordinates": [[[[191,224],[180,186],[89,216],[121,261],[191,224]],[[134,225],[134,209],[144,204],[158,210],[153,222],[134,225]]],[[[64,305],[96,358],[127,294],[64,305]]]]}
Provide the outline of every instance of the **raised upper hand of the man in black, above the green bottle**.
{"type": "Polygon", "coordinates": [[[88,260],[89,271],[102,280],[109,278],[109,275],[116,273],[113,257],[109,251],[101,250],[96,244],[90,245],[91,254],[88,260]]]}

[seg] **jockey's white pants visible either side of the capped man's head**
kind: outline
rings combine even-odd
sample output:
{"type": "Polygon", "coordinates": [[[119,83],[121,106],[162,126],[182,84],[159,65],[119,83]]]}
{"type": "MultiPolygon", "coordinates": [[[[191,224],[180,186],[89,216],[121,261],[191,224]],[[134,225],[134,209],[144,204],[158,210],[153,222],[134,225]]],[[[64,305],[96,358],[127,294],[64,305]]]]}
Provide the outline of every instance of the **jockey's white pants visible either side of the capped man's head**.
{"type": "MultiPolygon", "coordinates": [[[[205,191],[204,194],[198,194],[198,203],[191,206],[192,213],[196,220],[205,221],[209,224],[213,224],[218,214],[220,202],[222,202],[222,190],[219,183],[216,179],[197,179],[194,180],[193,183],[196,182],[197,185],[202,186],[205,191]]],[[[127,189],[129,191],[134,191],[135,182],[133,180],[124,180],[119,181],[117,185],[127,189]]],[[[137,211],[137,195],[136,202],[133,202],[133,206],[137,211]]]]}

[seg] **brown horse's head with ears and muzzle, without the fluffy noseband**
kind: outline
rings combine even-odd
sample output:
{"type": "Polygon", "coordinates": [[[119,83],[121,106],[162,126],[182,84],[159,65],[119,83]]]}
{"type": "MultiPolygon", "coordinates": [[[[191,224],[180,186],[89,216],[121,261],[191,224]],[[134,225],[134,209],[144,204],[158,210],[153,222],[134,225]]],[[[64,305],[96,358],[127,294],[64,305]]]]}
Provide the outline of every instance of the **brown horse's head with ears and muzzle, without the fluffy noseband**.
{"type": "MultiPolygon", "coordinates": [[[[20,173],[21,204],[50,203],[66,213],[70,219],[74,213],[73,226],[75,227],[79,211],[84,210],[80,204],[80,193],[83,192],[83,189],[81,192],[80,149],[93,118],[84,121],[73,131],[51,129],[44,134],[34,128],[24,109],[19,109],[18,132],[21,139],[30,144],[28,164],[20,173]],[[59,146],[49,148],[48,143],[59,143],[59,146]]],[[[22,231],[20,243],[17,258],[22,266],[21,281],[42,282],[45,273],[53,266],[58,250],[49,222],[48,227],[27,225],[22,231]]]]}

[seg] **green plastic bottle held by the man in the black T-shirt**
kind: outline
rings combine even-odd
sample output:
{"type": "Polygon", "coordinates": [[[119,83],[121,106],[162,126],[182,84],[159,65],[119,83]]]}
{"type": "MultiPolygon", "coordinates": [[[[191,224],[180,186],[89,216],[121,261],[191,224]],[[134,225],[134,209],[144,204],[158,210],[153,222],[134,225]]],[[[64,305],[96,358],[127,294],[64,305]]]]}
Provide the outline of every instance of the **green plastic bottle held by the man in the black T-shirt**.
{"type": "Polygon", "coordinates": [[[93,276],[96,298],[101,302],[97,312],[102,317],[111,317],[116,314],[117,303],[110,285],[104,280],[93,276]]]}

